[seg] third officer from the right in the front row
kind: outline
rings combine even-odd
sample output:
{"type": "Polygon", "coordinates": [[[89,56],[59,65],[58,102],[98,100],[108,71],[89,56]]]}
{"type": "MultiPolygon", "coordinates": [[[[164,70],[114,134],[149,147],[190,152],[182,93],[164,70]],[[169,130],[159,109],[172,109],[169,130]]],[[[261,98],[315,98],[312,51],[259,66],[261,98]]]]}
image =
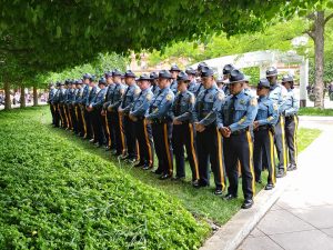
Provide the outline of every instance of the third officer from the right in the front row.
{"type": "Polygon", "coordinates": [[[176,169],[176,173],[173,179],[180,180],[185,178],[185,146],[192,171],[192,184],[198,187],[199,167],[195,150],[195,133],[192,123],[192,112],[195,97],[188,89],[190,79],[186,73],[181,71],[176,77],[176,81],[178,94],[174,98],[171,113],[173,120],[172,147],[174,151],[176,169]]]}

